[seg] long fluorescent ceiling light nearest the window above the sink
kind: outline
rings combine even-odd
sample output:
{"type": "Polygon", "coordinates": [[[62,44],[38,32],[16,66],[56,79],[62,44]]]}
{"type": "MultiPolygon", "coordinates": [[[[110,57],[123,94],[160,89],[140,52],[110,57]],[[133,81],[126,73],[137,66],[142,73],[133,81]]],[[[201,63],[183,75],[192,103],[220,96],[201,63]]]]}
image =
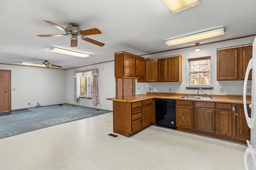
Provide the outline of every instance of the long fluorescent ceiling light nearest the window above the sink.
{"type": "Polygon", "coordinates": [[[208,38],[212,38],[212,37],[218,37],[220,35],[224,35],[224,27],[211,29],[208,31],[203,31],[200,33],[186,35],[186,36],[178,37],[178,38],[174,38],[174,39],[169,39],[169,40],[164,41],[164,43],[166,43],[166,45],[168,45],[170,47],[173,45],[186,44],[186,43],[200,41],[200,40],[208,39],[208,38]]]}

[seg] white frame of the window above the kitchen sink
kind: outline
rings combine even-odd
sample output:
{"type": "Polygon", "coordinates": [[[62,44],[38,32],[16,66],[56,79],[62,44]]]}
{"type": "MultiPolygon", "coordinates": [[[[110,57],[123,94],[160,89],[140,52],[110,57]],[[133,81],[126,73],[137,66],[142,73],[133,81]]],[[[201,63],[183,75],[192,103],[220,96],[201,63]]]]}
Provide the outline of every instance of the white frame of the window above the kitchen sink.
{"type": "MultiPolygon", "coordinates": [[[[201,65],[201,64],[199,64],[199,65],[201,65]]],[[[206,87],[206,88],[209,88],[209,87],[211,87],[211,82],[212,82],[212,80],[211,80],[211,56],[206,56],[206,57],[197,57],[197,58],[193,58],[193,59],[188,59],[188,87],[186,87],[186,88],[193,88],[193,87],[195,87],[195,88],[199,88],[199,87],[206,87]],[[210,69],[209,70],[207,70],[207,71],[196,71],[196,72],[191,72],[191,61],[202,61],[202,60],[210,60],[210,69]],[[204,72],[209,72],[209,85],[201,85],[201,84],[199,84],[199,85],[191,85],[191,77],[190,77],[190,74],[192,74],[192,73],[204,73],[204,72]]],[[[213,87],[212,87],[213,88],[213,87]]]]}

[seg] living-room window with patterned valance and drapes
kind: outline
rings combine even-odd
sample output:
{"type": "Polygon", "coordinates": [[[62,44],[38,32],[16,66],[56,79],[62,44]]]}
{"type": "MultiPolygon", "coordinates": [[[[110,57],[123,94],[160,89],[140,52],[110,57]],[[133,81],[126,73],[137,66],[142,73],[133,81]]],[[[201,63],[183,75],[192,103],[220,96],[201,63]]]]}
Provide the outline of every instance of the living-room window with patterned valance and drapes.
{"type": "Polygon", "coordinates": [[[98,69],[91,68],[87,70],[74,71],[73,77],[75,79],[74,100],[77,101],[82,94],[82,96],[86,95],[86,97],[91,97],[93,104],[99,104],[100,101],[99,101],[99,90],[98,90],[98,69]],[[83,80],[85,80],[85,82],[83,82],[83,80]],[[83,89],[83,85],[85,87],[86,84],[88,84],[88,88],[87,88],[88,90],[83,89]],[[83,94],[83,92],[87,92],[87,93],[83,94]]]}

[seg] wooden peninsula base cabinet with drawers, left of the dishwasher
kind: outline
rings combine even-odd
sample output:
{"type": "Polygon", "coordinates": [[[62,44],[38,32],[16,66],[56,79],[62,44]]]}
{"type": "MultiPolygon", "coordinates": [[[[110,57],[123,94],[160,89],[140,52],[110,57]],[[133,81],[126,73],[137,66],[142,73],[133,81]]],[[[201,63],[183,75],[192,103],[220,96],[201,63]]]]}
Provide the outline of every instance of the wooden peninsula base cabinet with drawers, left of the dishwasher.
{"type": "Polygon", "coordinates": [[[152,124],[153,100],[113,101],[113,132],[129,137],[152,124]]]}

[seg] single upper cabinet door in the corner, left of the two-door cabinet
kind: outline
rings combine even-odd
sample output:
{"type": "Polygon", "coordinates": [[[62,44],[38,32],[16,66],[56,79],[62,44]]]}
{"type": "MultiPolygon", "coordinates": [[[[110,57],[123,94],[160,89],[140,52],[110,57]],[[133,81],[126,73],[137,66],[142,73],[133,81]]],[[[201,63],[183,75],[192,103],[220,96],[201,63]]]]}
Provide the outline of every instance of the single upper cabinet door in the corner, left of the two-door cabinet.
{"type": "Polygon", "coordinates": [[[157,59],[148,59],[146,62],[146,82],[157,82],[157,59]]]}

